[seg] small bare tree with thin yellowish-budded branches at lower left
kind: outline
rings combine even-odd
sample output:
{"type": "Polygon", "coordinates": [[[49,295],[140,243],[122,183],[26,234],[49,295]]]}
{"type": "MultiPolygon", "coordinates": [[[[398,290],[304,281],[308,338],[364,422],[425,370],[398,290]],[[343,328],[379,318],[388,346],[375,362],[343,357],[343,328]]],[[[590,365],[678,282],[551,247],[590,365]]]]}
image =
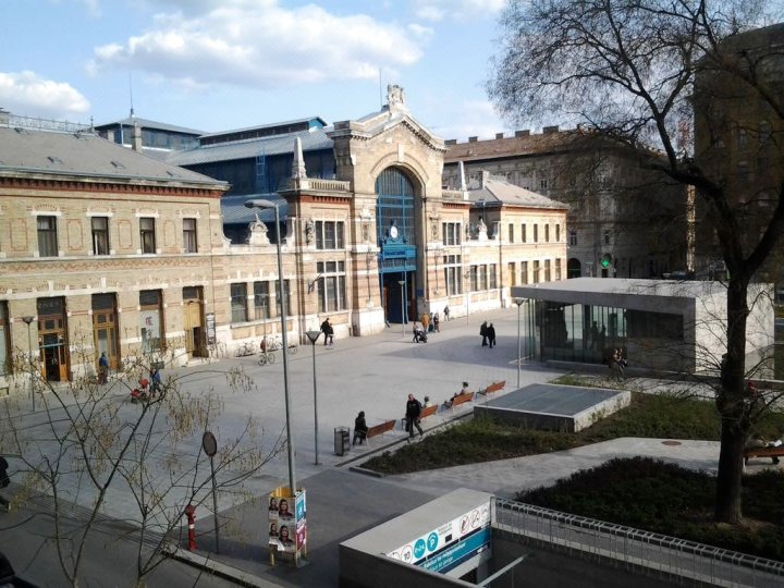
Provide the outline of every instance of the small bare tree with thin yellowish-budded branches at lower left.
{"type": "MultiPolygon", "coordinates": [[[[90,365],[93,347],[76,347],[72,346],[72,358],[90,365]]],[[[125,535],[135,541],[135,583],[143,585],[166,559],[166,544],[176,540],[185,507],[211,506],[211,468],[201,450],[205,431],[217,433],[216,491],[231,503],[247,500],[245,482],[283,448],[282,430],[265,440],[250,416],[232,427],[238,430],[232,438],[220,434],[220,416],[231,393],[255,389],[241,370],[199,372],[201,381],[212,373],[225,376],[232,391],[228,396],[189,381],[187,375],[170,375],[157,390],[150,388],[132,402],[132,390],[148,378],[157,357],[126,357],[122,371],[107,383],[85,373],[52,384],[24,355],[16,354],[14,377],[22,382],[33,379],[38,409],[29,412],[26,395],[7,399],[0,449],[17,455],[22,464],[17,477],[24,478],[23,490],[15,502],[25,503],[38,493],[53,499],[46,513],[52,520],[50,540],[72,586],[83,579],[88,540],[108,519],[127,529],[125,535]],[[112,504],[119,502],[134,505],[133,514],[118,519],[112,504]]]]}

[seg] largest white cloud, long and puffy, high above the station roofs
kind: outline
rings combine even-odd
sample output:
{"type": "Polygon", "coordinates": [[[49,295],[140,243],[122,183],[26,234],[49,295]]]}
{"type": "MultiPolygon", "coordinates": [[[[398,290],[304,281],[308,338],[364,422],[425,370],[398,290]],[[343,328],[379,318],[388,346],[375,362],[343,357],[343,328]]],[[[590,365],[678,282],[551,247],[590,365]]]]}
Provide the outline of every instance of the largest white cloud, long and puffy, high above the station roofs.
{"type": "MultiPolygon", "coordinates": [[[[177,3],[170,0],[169,3],[177,3]]],[[[134,69],[185,87],[233,84],[259,88],[327,79],[372,79],[379,68],[405,68],[421,57],[426,27],[405,28],[364,14],[338,16],[275,0],[198,2],[158,14],[152,28],[123,44],[98,47],[90,70],[134,69]]]]}

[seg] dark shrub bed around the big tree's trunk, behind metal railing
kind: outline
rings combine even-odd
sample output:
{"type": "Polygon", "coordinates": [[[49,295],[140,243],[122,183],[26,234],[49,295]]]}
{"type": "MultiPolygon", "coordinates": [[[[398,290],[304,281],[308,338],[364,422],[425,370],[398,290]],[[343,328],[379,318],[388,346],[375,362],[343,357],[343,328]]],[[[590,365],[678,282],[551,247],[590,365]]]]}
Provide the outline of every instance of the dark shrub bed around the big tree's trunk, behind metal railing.
{"type": "Polygon", "coordinates": [[[719,548],[784,560],[784,474],[745,476],[747,519],[715,524],[715,478],[649,457],[611,460],[549,488],[520,492],[520,502],[681,537],[719,548]]]}

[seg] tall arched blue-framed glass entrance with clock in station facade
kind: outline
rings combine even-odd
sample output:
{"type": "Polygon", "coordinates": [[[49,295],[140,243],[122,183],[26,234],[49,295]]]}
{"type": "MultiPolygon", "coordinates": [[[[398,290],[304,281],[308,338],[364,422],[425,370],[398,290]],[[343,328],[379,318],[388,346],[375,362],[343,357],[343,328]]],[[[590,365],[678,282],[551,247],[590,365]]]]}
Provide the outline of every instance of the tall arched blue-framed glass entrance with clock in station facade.
{"type": "Polygon", "coordinates": [[[408,317],[416,317],[415,196],[414,182],[400,168],[388,168],[376,180],[379,286],[390,322],[408,322],[408,317]]]}

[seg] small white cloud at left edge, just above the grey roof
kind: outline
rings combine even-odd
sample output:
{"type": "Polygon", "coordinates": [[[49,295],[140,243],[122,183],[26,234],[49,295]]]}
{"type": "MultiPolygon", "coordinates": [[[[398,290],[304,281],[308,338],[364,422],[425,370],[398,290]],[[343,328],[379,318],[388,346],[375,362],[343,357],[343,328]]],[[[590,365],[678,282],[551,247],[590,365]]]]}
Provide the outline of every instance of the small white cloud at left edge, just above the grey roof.
{"type": "Polygon", "coordinates": [[[85,114],[90,105],[69,84],[24,71],[0,72],[0,107],[21,115],[73,119],[85,114]]]}

